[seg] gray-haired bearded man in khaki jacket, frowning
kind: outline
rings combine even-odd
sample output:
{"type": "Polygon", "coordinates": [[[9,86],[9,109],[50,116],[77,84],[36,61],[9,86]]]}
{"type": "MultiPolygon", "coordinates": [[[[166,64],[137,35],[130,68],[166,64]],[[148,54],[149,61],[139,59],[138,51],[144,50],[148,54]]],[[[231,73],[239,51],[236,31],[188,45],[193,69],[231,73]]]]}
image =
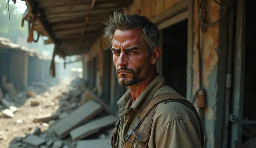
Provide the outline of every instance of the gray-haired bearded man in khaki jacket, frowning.
{"type": "Polygon", "coordinates": [[[112,43],[118,82],[129,88],[117,102],[120,119],[112,147],[201,148],[203,134],[198,114],[182,102],[161,102],[140,122],[152,98],[166,93],[178,96],[165,84],[163,74],[157,72],[161,54],[157,26],[145,16],[119,12],[104,24],[105,37],[112,43]]]}

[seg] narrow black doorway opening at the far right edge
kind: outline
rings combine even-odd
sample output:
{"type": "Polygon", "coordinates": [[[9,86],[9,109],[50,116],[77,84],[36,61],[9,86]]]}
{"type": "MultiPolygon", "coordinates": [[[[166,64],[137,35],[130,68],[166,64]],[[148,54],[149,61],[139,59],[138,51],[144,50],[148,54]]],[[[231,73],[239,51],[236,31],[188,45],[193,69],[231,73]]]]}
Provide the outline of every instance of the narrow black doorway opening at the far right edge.
{"type": "MultiPolygon", "coordinates": [[[[245,71],[243,85],[243,122],[242,122],[242,143],[252,137],[256,137],[256,77],[254,66],[256,63],[256,42],[254,36],[256,28],[253,22],[255,15],[252,1],[246,0],[246,25],[245,25],[245,71]]],[[[256,145],[256,139],[255,139],[256,145]]]]}

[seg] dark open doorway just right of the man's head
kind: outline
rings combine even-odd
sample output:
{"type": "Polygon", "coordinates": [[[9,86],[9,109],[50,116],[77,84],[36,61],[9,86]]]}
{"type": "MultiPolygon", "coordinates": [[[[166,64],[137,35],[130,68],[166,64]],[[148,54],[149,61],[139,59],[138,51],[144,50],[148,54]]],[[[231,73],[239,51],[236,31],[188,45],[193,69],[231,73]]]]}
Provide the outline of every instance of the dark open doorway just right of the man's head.
{"type": "Polygon", "coordinates": [[[187,19],[162,30],[162,73],[181,96],[187,89],[187,19]]]}

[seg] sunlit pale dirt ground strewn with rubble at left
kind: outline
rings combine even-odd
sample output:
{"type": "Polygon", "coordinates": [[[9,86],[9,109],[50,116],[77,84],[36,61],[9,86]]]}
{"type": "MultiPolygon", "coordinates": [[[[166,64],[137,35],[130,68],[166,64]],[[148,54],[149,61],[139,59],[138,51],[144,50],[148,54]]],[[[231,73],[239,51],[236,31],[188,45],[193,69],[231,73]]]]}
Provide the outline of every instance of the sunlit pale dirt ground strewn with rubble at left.
{"type": "MultiPolygon", "coordinates": [[[[0,118],[0,147],[8,148],[15,137],[25,137],[26,133],[30,133],[35,126],[40,127],[42,132],[48,130],[47,124],[34,123],[34,117],[55,113],[59,108],[58,96],[68,90],[70,82],[69,79],[62,80],[61,84],[49,87],[48,91],[37,94],[40,104],[34,107],[31,106],[26,92],[19,93],[20,97],[14,101],[18,107],[14,117],[0,118]]],[[[35,89],[35,87],[30,87],[30,89],[35,89]]]]}

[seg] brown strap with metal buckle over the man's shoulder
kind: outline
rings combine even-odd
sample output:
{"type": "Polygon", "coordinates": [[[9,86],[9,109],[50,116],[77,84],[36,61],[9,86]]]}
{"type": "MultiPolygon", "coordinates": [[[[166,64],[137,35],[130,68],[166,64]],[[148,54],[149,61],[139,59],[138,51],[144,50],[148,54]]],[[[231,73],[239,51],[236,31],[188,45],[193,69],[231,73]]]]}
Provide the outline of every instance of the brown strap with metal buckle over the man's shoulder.
{"type": "Polygon", "coordinates": [[[195,107],[192,105],[192,103],[189,100],[180,96],[179,94],[163,93],[163,94],[160,94],[158,96],[153,97],[150,100],[149,104],[145,107],[145,109],[139,115],[139,117],[137,117],[135,122],[132,124],[131,129],[128,131],[128,133],[126,134],[126,136],[122,140],[123,143],[126,143],[126,148],[132,148],[133,142],[136,139],[136,137],[132,133],[139,127],[139,125],[141,125],[142,121],[144,121],[145,117],[151,112],[151,110],[153,108],[155,108],[161,102],[169,103],[169,102],[173,102],[173,101],[181,102],[182,104],[186,105],[197,116],[198,122],[199,122],[199,125],[200,125],[200,132],[201,132],[200,133],[201,134],[201,144],[202,144],[202,147],[203,147],[203,145],[204,145],[203,126],[202,126],[200,117],[199,117],[198,112],[195,109],[195,107]]]}

